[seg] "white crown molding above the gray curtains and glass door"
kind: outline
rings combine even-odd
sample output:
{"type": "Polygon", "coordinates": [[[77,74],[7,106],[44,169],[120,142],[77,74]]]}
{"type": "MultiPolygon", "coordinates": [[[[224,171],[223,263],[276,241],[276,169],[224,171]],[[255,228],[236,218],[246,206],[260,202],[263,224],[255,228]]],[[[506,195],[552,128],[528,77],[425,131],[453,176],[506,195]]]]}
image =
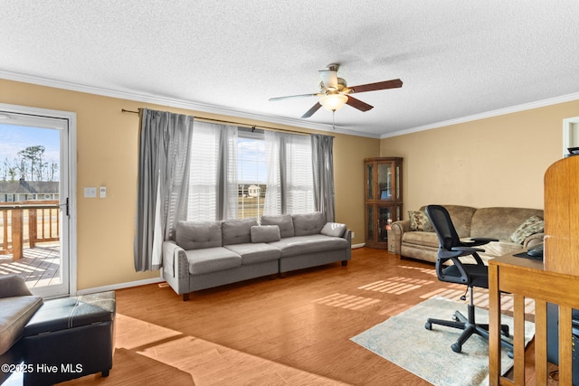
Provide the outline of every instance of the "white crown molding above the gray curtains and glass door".
{"type": "Polygon", "coordinates": [[[379,135],[370,135],[367,133],[362,133],[359,131],[351,130],[344,127],[332,127],[331,125],[313,123],[304,121],[297,118],[280,118],[273,117],[263,114],[250,113],[247,111],[238,110],[235,108],[223,108],[220,106],[208,105],[204,103],[198,103],[191,100],[185,99],[173,99],[160,97],[153,94],[147,94],[142,92],[136,92],[131,90],[121,90],[121,89],[105,89],[95,86],[84,85],[80,83],[73,83],[64,80],[53,80],[50,78],[43,78],[33,75],[27,75],[11,71],[0,70],[0,78],[5,80],[15,80],[23,83],[31,83],[39,86],[52,87],[55,89],[68,89],[71,91],[79,91],[88,94],[100,95],[103,97],[117,98],[117,99],[127,99],[131,101],[138,101],[143,103],[153,103],[156,105],[167,106],[172,108],[185,108],[188,110],[194,110],[210,114],[218,114],[223,116],[228,116],[232,118],[246,118],[252,120],[258,120],[267,123],[275,123],[279,125],[285,125],[290,127],[308,128],[312,130],[325,131],[330,133],[346,134],[356,137],[373,137],[380,138],[379,135]]]}

